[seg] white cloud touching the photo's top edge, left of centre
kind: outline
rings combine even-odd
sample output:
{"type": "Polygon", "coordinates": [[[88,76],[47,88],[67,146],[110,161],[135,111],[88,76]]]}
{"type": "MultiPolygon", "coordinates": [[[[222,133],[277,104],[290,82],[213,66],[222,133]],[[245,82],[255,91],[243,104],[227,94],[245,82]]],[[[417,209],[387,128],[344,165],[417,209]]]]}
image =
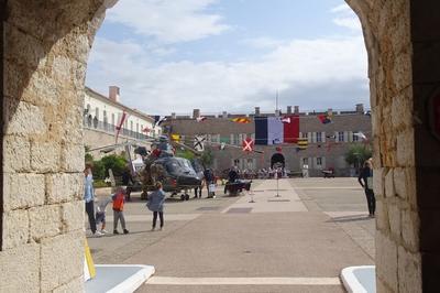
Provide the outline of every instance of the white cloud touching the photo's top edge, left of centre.
{"type": "Polygon", "coordinates": [[[218,35],[229,30],[207,8],[218,0],[121,0],[108,11],[107,20],[121,23],[160,43],[178,43],[218,35]]]}

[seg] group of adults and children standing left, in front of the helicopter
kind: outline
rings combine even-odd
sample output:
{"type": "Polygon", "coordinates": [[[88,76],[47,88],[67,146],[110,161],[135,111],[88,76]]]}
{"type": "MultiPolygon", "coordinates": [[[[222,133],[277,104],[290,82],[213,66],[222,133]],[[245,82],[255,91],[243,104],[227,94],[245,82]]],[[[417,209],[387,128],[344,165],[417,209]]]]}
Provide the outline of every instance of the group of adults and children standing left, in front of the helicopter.
{"type": "MultiPolygon", "coordinates": [[[[94,176],[91,173],[91,166],[86,166],[84,171],[84,200],[86,203],[86,213],[88,216],[90,230],[94,236],[103,236],[107,232],[106,230],[106,209],[107,206],[112,203],[113,209],[113,235],[119,235],[118,225],[121,221],[122,232],[129,234],[129,230],[125,226],[125,218],[123,214],[124,203],[130,198],[128,192],[130,193],[130,188],[118,187],[113,194],[108,197],[101,198],[97,200],[95,197],[94,191],[94,176]],[[129,191],[128,191],[129,189],[129,191]],[[96,205],[95,205],[96,203],[96,205]],[[101,229],[98,230],[98,225],[101,225],[101,229]]],[[[161,220],[160,229],[162,230],[164,227],[164,203],[165,203],[165,193],[163,191],[163,186],[161,182],[156,182],[155,192],[153,192],[148,202],[146,203],[146,207],[153,211],[153,225],[152,230],[156,228],[157,216],[161,220]]]]}

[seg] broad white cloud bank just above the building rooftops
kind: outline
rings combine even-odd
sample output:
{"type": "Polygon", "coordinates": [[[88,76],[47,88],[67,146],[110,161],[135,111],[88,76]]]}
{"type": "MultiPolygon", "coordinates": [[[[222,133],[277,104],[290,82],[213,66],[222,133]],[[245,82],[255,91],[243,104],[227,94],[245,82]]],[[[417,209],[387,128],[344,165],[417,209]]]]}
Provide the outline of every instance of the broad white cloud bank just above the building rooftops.
{"type": "Polygon", "coordinates": [[[369,99],[362,36],[296,40],[253,62],[154,64],[145,59],[147,54],[134,43],[97,39],[87,84],[102,93],[108,85],[119,85],[124,102],[148,113],[273,108],[277,89],[284,102],[309,108],[346,107],[348,99],[355,100],[350,104],[369,99]],[[330,87],[333,96],[326,91],[330,87]],[[349,90],[353,87],[356,90],[349,90]],[[321,89],[317,95],[326,97],[311,97],[317,88],[321,89]],[[348,91],[356,96],[348,97],[343,94],[348,91]]]}

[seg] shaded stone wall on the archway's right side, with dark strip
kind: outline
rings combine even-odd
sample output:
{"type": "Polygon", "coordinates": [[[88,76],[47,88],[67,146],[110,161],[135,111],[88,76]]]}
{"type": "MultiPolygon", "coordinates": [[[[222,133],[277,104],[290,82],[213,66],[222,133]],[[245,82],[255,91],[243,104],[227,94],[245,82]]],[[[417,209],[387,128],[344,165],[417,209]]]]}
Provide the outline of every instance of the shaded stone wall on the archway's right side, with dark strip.
{"type": "Polygon", "coordinates": [[[432,40],[439,40],[433,11],[440,6],[348,2],[363,24],[370,58],[377,291],[433,292],[440,200],[432,193],[440,187],[440,163],[439,141],[427,130],[427,99],[440,80],[432,69],[439,68],[432,40]]]}

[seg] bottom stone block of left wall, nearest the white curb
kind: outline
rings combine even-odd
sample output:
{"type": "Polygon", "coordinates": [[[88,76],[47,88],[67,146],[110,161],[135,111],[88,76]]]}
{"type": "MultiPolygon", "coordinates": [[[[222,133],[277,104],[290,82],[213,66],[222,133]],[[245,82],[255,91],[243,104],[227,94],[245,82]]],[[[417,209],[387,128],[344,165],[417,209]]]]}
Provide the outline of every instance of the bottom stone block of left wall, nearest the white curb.
{"type": "Polygon", "coordinates": [[[41,249],[41,289],[52,291],[80,278],[84,270],[84,232],[44,239],[41,249]]]}

